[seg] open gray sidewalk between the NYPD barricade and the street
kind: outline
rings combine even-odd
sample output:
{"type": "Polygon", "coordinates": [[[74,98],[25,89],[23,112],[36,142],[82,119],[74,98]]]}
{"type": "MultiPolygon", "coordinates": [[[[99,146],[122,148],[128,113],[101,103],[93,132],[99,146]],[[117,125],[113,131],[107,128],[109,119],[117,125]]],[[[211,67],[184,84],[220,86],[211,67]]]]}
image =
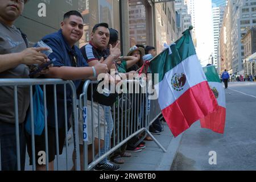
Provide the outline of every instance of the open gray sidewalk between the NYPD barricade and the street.
{"type": "Polygon", "coordinates": [[[164,152],[154,141],[145,141],[146,148],[141,152],[131,153],[131,158],[123,158],[121,171],[170,171],[174,161],[181,136],[174,138],[167,124],[164,122],[161,135],[153,135],[167,152],[164,152]]]}

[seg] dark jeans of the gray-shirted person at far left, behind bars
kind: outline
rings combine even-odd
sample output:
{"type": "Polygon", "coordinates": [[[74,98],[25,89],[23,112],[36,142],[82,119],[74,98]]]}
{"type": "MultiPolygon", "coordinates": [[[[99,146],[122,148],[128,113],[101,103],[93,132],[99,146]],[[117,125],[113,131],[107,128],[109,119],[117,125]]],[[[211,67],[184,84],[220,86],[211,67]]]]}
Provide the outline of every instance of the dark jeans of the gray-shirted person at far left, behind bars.
{"type": "MultiPolygon", "coordinates": [[[[2,171],[18,170],[16,154],[15,125],[0,121],[0,143],[1,143],[1,164],[2,171]]],[[[26,142],[24,135],[24,125],[19,125],[19,145],[20,145],[20,169],[24,171],[26,142]]]]}

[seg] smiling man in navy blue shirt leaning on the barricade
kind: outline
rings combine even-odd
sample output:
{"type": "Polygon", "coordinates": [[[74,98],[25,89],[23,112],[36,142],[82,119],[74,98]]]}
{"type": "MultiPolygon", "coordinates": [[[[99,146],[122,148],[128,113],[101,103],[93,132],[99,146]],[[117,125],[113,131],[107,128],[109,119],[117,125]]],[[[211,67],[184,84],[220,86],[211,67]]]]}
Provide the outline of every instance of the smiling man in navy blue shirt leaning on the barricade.
{"type": "MultiPolygon", "coordinates": [[[[96,77],[100,73],[106,73],[106,64],[98,63],[94,67],[88,64],[82,57],[80,49],[75,44],[81,39],[84,32],[84,22],[82,15],[78,11],[69,11],[64,14],[61,28],[58,32],[45,36],[42,41],[52,48],[53,53],[49,59],[56,59],[53,67],[49,70],[46,78],[61,78],[63,80],[73,80],[76,89],[81,80],[88,77],[96,77]]],[[[57,85],[57,123],[59,129],[59,153],[62,154],[65,141],[65,114],[64,114],[64,86],[57,85]]],[[[67,118],[72,113],[72,90],[67,85],[67,118]]],[[[53,86],[47,86],[47,110],[48,110],[48,151],[49,151],[49,170],[53,170],[53,160],[56,155],[55,141],[55,109],[53,86]]],[[[68,123],[69,124],[69,123],[68,123]]],[[[70,126],[69,126],[70,128],[70,126]]],[[[45,150],[44,131],[40,136],[35,137],[36,169],[45,170],[46,166],[38,164],[38,152],[45,150]]],[[[31,137],[28,136],[28,154],[30,164],[32,163],[31,137]]]]}

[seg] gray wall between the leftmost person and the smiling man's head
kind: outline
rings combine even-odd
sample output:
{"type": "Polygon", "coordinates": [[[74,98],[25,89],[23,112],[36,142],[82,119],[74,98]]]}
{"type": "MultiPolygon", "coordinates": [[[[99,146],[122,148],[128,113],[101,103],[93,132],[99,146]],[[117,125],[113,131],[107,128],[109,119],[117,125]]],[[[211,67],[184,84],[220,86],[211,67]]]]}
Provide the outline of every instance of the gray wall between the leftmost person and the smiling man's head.
{"type": "Polygon", "coordinates": [[[27,34],[29,46],[32,47],[47,34],[59,30],[65,12],[78,9],[79,0],[28,1],[15,26],[27,34]]]}

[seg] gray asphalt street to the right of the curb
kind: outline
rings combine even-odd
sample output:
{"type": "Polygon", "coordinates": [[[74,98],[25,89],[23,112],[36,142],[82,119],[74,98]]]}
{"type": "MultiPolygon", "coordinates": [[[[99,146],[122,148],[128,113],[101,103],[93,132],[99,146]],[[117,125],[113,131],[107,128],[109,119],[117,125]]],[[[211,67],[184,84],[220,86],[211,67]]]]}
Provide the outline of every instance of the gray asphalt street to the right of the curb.
{"type": "Polygon", "coordinates": [[[225,133],[194,123],[184,132],[171,170],[256,170],[256,83],[229,82],[225,133]],[[210,151],[216,164],[209,164],[210,151]]]}

